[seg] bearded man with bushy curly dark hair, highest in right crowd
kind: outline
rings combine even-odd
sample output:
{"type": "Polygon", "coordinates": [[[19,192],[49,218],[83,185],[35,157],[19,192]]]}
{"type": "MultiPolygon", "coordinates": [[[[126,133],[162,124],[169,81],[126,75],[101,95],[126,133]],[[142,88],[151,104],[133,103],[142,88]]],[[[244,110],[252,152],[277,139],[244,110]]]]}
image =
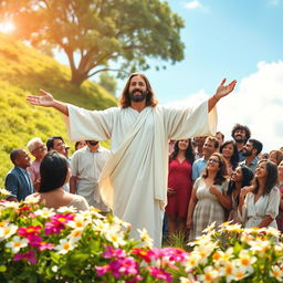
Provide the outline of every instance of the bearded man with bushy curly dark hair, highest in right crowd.
{"type": "Polygon", "coordinates": [[[235,142],[238,153],[239,153],[239,161],[244,160],[243,156],[243,146],[245,145],[247,140],[251,137],[251,130],[248,126],[243,126],[240,124],[235,124],[232,128],[232,138],[235,142]]]}

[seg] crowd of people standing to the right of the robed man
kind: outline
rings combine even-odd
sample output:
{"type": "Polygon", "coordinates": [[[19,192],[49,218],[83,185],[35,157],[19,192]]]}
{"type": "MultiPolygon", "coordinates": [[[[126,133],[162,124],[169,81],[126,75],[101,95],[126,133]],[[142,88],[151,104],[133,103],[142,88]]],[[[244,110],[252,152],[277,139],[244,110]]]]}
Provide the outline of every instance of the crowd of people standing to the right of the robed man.
{"type": "Polygon", "coordinates": [[[283,148],[262,153],[262,143],[240,124],[231,136],[218,132],[171,147],[165,234],[181,231],[193,241],[224,221],[283,232],[283,148]]]}

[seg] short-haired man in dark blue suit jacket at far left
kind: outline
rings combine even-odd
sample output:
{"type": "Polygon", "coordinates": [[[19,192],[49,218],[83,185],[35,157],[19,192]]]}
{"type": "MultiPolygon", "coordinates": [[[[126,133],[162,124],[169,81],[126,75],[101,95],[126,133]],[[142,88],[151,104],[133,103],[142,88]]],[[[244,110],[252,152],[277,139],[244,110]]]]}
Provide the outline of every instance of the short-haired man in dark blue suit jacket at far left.
{"type": "Polygon", "coordinates": [[[4,188],[11,191],[8,200],[20,201],[33,193],[33,185],[27,168],[31,166],[31,158],[24,149],[13,149],[10,159],[14,168],[8,172],[4,188]]]}

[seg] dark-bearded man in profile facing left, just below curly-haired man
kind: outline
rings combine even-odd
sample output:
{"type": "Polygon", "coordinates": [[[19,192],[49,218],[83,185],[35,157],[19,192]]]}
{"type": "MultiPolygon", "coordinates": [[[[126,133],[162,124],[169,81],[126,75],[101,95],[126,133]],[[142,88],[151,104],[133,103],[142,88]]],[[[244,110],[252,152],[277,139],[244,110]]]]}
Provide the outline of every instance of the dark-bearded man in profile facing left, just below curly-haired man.
{"type": "Polygon", "coordinates": [[[259,163],[258,155],[262,150],[262,143],[258,139],[250,138],[243,147],[243,156],[245,159],[240,165],[248,166],[253,172],[259,163]]]}

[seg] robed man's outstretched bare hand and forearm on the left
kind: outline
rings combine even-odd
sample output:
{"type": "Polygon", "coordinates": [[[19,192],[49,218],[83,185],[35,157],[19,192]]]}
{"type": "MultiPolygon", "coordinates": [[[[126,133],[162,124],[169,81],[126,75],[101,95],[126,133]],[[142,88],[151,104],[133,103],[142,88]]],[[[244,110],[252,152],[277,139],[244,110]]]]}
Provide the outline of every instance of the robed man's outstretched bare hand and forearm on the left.
{"type": "Polygon", "coordinates": [[[40,93],[43,94],[42,96],[36,95],[29,95],[27,97],[27,101],[36,106],[43,106],[43,107],[53,107],[64,115],[69,116],[67,106],[65,103],[54,99],[54,97],[50,94],[44,92],[43,90],[40,90],[40,93]]]}

